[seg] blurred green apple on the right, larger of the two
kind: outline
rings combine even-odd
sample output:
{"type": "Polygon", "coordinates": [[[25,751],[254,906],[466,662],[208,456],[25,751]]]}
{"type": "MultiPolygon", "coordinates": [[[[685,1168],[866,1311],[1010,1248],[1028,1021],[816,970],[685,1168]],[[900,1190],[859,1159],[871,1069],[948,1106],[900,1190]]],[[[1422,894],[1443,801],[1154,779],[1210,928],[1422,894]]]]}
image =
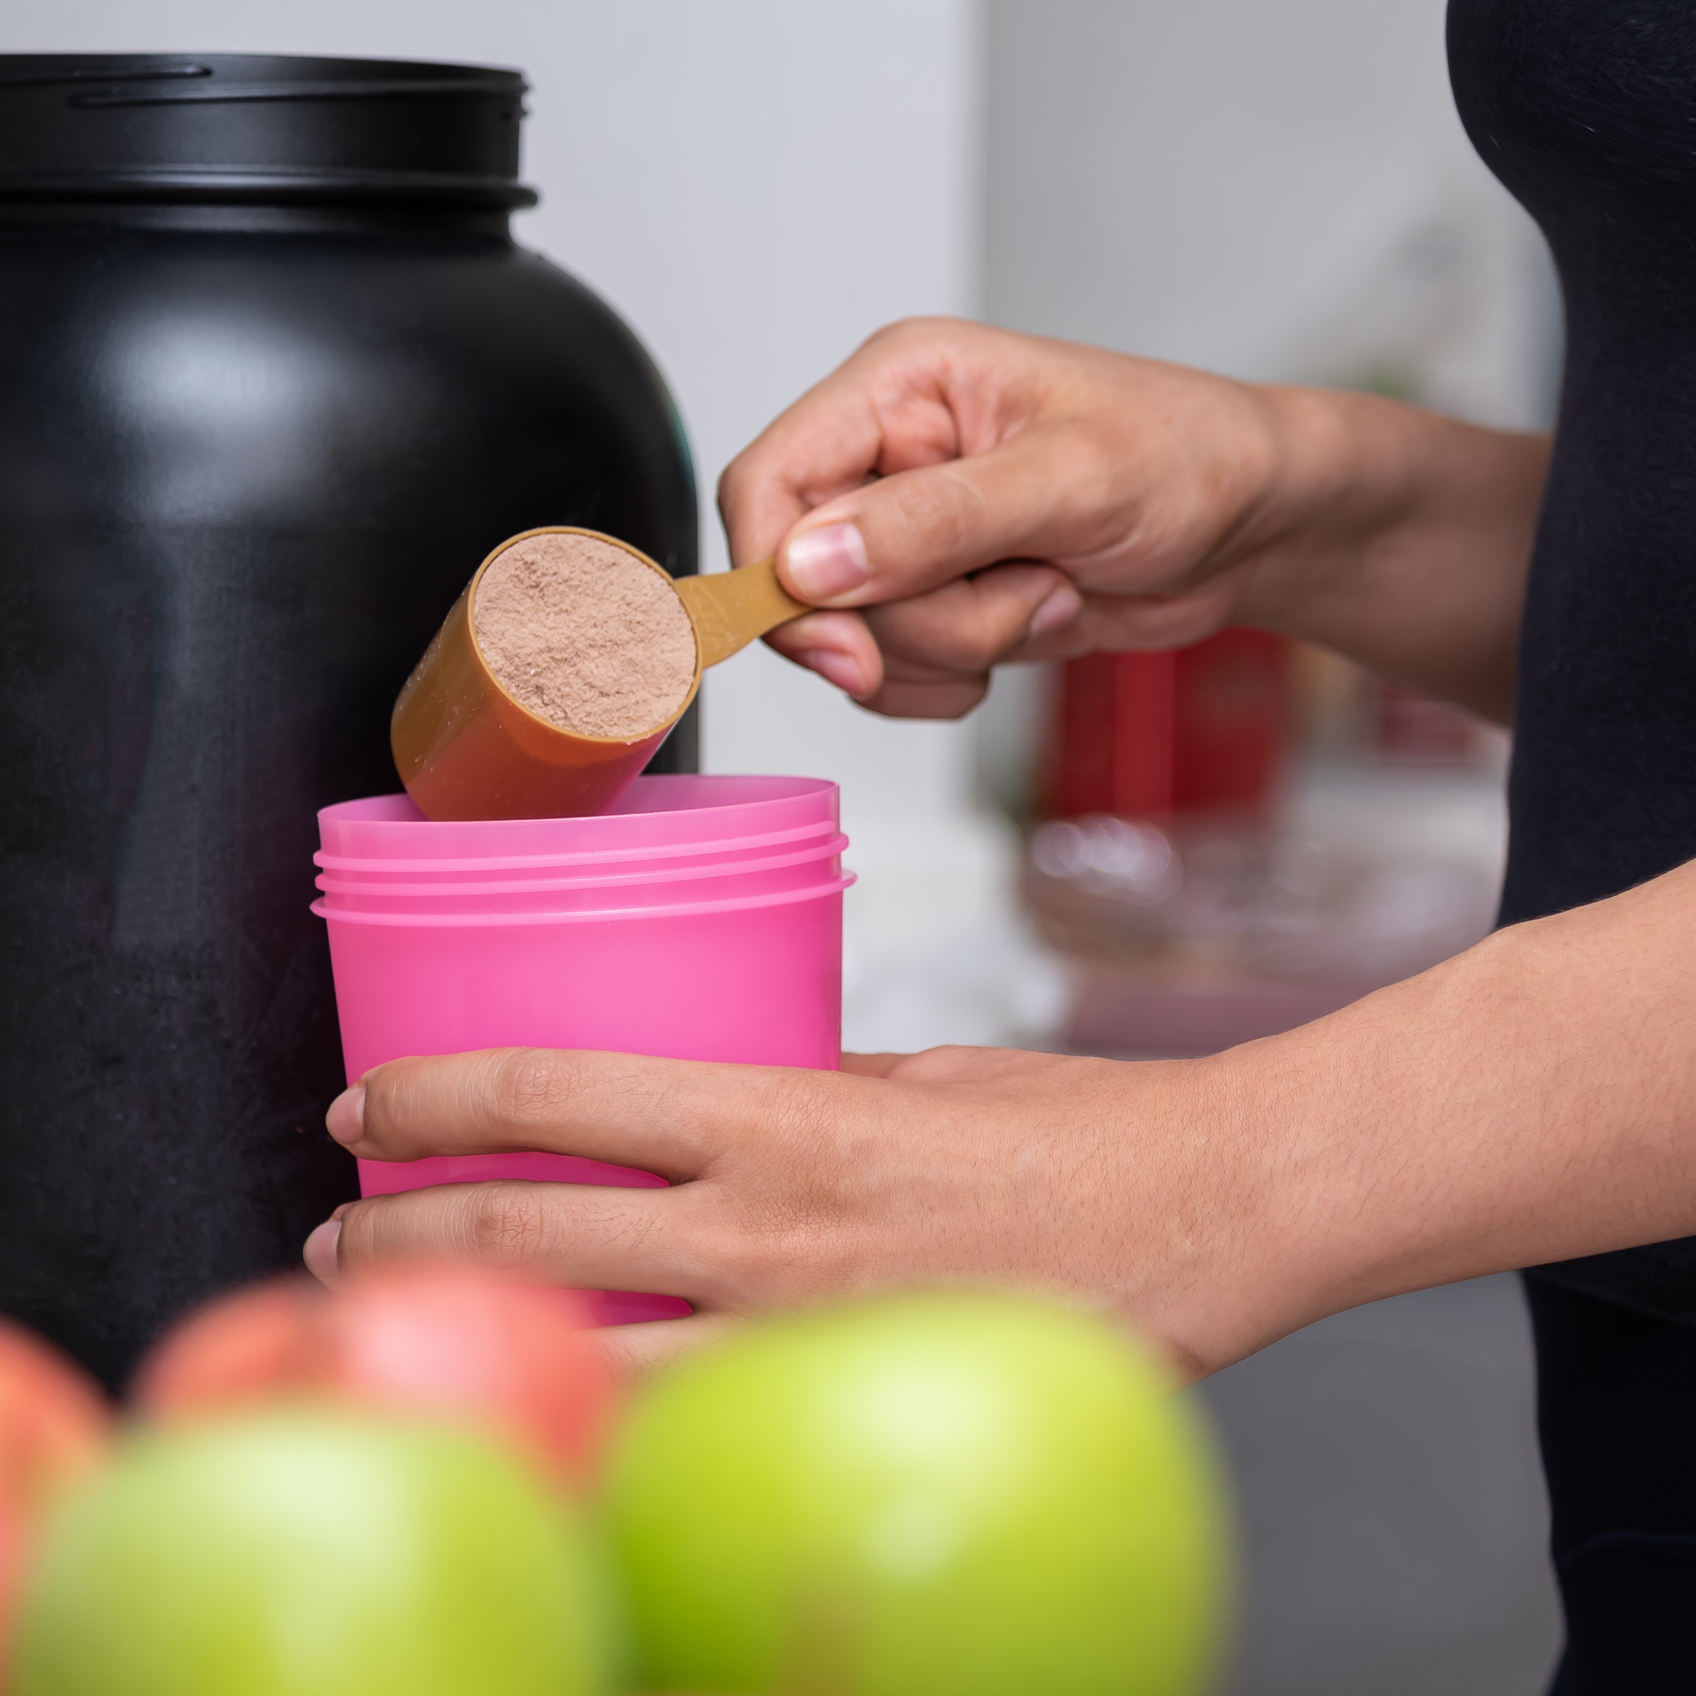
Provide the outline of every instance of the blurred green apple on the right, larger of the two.
{"type": "Polygon", "coordinates": [[[1223,1626],[1202,1431],[1114,1330],[1021,1299],[802,1314],[672,1367],[609,1523],[661,1691],[1187,1696],[1223,1626]]]}

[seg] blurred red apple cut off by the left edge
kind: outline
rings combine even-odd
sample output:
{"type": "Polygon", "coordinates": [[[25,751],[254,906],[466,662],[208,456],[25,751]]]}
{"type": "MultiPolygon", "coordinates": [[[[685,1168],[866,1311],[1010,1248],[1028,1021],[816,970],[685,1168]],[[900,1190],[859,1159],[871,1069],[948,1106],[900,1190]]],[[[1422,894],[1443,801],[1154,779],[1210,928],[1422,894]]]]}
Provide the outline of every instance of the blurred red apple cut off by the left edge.
{"type": "Polygon", "coordinates": [[[0,1655],[42,1515],[110,1442],[112,1411],[93,1379],[0,1319],[0,1655]]]}

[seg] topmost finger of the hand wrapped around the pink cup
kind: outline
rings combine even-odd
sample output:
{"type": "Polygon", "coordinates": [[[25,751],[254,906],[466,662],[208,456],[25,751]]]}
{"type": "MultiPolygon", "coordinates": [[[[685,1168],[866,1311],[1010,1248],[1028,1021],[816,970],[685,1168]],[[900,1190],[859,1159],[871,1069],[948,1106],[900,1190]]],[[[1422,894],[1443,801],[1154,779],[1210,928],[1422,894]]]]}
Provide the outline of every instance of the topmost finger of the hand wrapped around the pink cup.
{"type": "Polygon", "coordinates": [[[787,1075],[578,1048],[485,1048],[375,1067],[326,1123],[361,1160],[536,1150],[675,1184],[700,1177],[743,1124],[778,1111],[787,1075]]]}

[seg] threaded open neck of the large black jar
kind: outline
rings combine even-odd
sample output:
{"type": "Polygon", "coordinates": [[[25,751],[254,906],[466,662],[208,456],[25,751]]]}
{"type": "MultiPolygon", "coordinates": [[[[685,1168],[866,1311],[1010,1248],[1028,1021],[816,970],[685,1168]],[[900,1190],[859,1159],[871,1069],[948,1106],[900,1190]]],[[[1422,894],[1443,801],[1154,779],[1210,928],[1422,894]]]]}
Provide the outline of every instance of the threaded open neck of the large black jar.
{"type": "Polygon", "coordinates": [[[527,207],[524,90],[405,59],[0,54],[0,200],[527,207]]]}

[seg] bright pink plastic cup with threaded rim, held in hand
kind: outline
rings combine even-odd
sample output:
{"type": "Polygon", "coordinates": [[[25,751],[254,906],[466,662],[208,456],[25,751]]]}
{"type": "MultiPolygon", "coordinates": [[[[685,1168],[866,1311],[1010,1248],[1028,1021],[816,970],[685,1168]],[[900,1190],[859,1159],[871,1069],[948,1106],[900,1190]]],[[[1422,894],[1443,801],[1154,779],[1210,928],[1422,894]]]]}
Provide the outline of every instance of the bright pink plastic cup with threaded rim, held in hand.
{"type": "MultiPolygon", "coordinates": [[[[431,821],[405,795],[319,814],[348,1079],[402,1055],[602,1048],[834,1068],[836,785],[643,777],[580,819],[431,821]]],[[[360,1162],[366,1196],[478,1179],[663,1186],[572,1155],[360,1162]]],[[[687,1313],[605,1292],[602,1323],[687,1313]]]]}

